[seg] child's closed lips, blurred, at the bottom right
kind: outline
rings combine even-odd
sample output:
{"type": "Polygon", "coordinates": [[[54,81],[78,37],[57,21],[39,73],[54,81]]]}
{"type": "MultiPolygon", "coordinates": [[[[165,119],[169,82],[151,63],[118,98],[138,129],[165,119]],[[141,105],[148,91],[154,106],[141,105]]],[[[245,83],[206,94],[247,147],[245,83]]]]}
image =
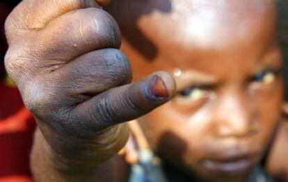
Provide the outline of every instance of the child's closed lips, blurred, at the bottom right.
{"type": "Polygon", "coordinates": [[[257,165],[260,157],[261,155],[259,154],[249,154],[245,156],[229,156],[220,159],[206,159],[202,160],[202,166],[207,171],[216,174],[247,174],[257,165]]]}

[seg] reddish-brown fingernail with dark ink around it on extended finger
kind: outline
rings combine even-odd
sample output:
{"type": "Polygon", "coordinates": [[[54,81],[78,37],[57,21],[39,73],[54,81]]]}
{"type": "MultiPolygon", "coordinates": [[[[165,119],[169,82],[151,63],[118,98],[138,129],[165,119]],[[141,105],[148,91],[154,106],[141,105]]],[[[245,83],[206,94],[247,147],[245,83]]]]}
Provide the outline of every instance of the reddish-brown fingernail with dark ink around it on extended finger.
{"type": "Polygon", "coordinates": [[[151,79],[148,92],[154,99],[166,99],[169,96],[165,83],[162,78],[157,75],[151,79]]]}

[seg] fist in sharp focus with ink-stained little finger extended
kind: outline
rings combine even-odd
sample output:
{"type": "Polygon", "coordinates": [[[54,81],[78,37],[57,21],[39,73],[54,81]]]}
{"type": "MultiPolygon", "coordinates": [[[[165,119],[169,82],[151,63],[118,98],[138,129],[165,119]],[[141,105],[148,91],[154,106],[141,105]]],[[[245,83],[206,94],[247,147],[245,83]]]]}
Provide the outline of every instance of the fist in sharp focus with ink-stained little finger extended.
{"type": "Polygon", "coordinates": [[[6,20],[6,37],[8,74],[65,163],[97,165],[115,155],[129,135],[123,123],[175,92],[166,72],[130,83],[118,25],[93,0],[24,0],[6,20]]]}

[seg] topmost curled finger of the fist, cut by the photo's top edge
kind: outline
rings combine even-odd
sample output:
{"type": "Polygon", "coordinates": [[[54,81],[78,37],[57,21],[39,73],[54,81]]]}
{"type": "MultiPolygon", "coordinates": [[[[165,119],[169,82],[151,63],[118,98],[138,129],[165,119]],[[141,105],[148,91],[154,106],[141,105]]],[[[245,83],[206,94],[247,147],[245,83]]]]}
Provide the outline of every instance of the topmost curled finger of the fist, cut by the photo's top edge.
{"type": "Polygon", "coordinates": [[[6,32],[13,33],[15,28],[37,31],[67,12],[91,7],[99,8],[99,5],[95,0],[24,0],[7,18],[6,32]]]}

